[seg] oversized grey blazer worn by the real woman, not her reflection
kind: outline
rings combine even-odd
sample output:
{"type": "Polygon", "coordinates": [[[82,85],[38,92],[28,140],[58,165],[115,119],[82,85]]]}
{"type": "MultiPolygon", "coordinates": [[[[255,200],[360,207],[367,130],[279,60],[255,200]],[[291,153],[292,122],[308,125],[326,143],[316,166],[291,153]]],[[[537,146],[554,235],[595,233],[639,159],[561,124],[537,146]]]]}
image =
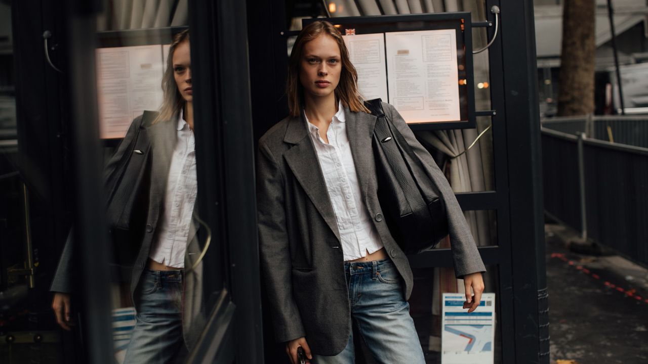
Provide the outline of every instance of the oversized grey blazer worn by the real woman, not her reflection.
{"type": "MultiPolygon", "coordinates": [[[[441,191],[457,277],[485,271],[445,176],[393,106],[383,103],[383,108],[441,191]]],[[[409,299],[410,264],[380,216],[383,212],[376,195],[371,148],[376,117],[347,108],[345,118],[362,198],[404,280],[403,296],[409,299]]],[[[340,233],[314,145],[299,117],[281,120],[259,140],[257,209],[262,274],[277,341],[305,336],[320,355],[340,353],[351,332],[340,233]]]]}

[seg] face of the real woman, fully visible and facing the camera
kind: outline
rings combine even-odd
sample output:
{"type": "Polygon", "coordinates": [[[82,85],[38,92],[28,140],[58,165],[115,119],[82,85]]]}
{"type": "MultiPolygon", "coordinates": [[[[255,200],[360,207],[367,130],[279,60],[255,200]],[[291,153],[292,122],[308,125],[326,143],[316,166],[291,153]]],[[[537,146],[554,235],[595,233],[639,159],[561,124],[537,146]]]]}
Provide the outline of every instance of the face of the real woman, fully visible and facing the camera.
{"type": "Polygon", "coordinates": [[[307,99],[334,95],[341,71],[340,47],[332,36],[320,34],[304,45],[299,82],[307,99]]]}

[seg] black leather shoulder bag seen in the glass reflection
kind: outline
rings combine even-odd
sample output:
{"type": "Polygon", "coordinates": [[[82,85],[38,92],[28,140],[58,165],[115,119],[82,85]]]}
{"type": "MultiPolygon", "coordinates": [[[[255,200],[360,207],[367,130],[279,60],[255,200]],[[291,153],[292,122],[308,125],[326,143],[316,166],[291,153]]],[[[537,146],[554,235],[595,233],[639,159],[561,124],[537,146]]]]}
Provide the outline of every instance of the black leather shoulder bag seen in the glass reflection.
{"type": "Polygon", "coordinates": [[[106,218],[113,244],[114,263],[131,265],[137,258],[144,236],[151,181],[151,142],[146,128],[157,117],[144,111],[135,119],[135,135],[117,167],[104,176],[108,196],[106,218]]]}

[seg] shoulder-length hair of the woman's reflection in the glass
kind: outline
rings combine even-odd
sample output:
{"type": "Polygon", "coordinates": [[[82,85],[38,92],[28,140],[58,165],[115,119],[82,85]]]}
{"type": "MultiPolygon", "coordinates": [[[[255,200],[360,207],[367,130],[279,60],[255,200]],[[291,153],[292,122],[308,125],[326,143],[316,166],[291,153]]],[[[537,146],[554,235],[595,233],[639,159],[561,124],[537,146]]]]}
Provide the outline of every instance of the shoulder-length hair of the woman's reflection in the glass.
{"type": "Polygon", "coordinates": [[[162,107],[160,108],[156,119],[153,120],[153,124],[175,119],[178,117],[180,110],[185,107],[185,99],[180,95],[173,74],[173,53],[176,51],[178,45],[185,41],[189,41],[189,29],[185,29],[176,34],[171,42],[171,47],[168,50],[167,56],[167,69],[165,69],[164,75],[162,76],[162,107]]]}

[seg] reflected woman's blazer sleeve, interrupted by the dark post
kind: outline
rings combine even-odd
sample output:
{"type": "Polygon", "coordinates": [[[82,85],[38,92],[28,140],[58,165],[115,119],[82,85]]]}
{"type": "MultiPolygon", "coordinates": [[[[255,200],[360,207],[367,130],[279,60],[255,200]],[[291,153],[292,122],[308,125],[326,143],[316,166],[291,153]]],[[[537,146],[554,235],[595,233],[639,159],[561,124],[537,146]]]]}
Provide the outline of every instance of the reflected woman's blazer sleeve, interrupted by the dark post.
{"type": "MultiPolygon", "coordinates": [[[[104,168],[104,181],[106,181],[106,179],[115,171],[115,168],[119,166],[119,162],[124,157],[124,154],[126,154],[126,151],[130,149],[130,145],[135,139],[135,130],[137,130],[141,124],[141,116],[135,118],[135,120],[130,124],[128,131],[126,131],[126,136],[124,136],[124,139],[119,142],[117,151],[112,155],[112,157],[110,157],[110,161],[108,161],[104,168]]],[[[73,275],[75,274],[77,266],[74,264],[75,262],[73,259],[74,245],[74,231],[73,229],[70,229],[69,234],[67,234],[67,240],[65,240],[63,253],[61,254],[61,258],[58,260],[58,267],[56,267],[50,291],[73,293],[73,275]]]]}

